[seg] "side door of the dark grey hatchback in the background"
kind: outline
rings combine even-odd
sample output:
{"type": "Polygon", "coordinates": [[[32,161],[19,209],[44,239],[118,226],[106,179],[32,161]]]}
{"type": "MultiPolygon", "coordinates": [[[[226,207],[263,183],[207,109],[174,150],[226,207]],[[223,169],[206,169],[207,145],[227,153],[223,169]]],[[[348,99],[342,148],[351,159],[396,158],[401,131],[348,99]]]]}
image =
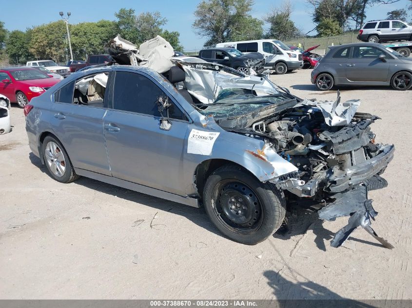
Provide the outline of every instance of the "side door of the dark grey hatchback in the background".
{"type": "Polygon", "coordinates": [[[346,65],[346,78],[350,82],[386,82],[391,57],[382,49],[355,45],[346,65]],[[384,54],[385,60],[379,59],[384,54]]]}

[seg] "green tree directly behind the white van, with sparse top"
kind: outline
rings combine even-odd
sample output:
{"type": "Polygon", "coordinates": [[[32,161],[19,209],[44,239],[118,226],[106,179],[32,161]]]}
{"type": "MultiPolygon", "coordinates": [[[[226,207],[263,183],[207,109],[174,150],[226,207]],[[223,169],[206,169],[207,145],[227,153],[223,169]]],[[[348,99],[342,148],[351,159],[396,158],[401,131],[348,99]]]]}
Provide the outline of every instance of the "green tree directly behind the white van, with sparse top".
{"type": "Polygon", "coordinates": [[[278,8],[274,8],[265,20],[270,24],[270,29],[266,36],[280,40],[288,40],[300,36],[299,29],[296,28],[291,19],[293,6],[289,0],[286,0],[278,8]]]}

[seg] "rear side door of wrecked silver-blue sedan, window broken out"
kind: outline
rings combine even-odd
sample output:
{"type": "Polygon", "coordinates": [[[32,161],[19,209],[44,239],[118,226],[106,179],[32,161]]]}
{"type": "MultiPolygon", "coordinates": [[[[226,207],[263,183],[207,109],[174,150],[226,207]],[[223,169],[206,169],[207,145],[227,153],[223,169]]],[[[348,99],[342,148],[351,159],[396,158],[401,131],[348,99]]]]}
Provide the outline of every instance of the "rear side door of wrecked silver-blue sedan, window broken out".
{"type": "Polygon", "coordinates": [[[87,95],[79,94],[79,83],[94,75],[73,80],[54,93],[50,124],[73,166],[111,176],[103,136],[103,115],[107,110],[108,97],[104,94],[101,102],[87,101],[91,99],[86,98],[91,96],[87,85],[87,95]]]}

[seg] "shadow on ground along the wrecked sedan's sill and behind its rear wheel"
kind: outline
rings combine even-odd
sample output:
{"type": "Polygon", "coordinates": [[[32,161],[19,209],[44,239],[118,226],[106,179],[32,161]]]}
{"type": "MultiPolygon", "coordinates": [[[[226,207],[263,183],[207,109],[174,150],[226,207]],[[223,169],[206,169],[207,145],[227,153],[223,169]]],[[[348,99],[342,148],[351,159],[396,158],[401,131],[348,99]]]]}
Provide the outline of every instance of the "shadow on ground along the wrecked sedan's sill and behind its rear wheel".
{"type": "MultiPolygon", "coordinates": [[[[34,155],[32,152],[29,154],[29,159],[36,167],[38,167],[43,173],[49,173],[45,165],[41,164],[40,159],[34,155]]],[[[150,206],[159,211],[171,212],[182,217],[189,219],[190,221],[196,223],[196,225],[206,229],[207,231],[213,232],[218,236],[224,237],[219,230],[213,225],[207,216],[204,208],[194,208],[188,205],[183,205],[177,202],[173,202],[166,199],[160,199],[150,195],[145,195],[142,193],[135,192],[126,188],[115,186],[112,184],[107,184],[101,181],[93,180],[90,178],[81,177],[74,182],[77,185],[82,185],[87,188],[99,191],[101,193],[116,196],[117,198],[125,199],[128,201],[136,202],[146,206],[150,206]]]]}

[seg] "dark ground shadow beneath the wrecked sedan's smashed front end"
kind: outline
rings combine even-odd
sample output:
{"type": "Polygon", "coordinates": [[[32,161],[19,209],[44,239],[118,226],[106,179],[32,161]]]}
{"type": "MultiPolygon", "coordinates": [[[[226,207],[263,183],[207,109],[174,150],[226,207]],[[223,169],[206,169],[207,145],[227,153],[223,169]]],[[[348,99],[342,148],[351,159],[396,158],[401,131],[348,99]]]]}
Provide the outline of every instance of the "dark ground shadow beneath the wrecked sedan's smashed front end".
{"type": "MultiPolygon", "coordinates": [[[[334,233],[323,226],[324,220],[318,217],[317,212],[299,206],[298,203],[291,204],[288,210],[289,211],[286,213],[287,223],[283,224],[273,237],[289,240],[293,236],[305,235],[307,232],[312,231],[315,236],[314,242],[316,247],[319,248],[319,250],[326,252],[326,245],[330,245],[331,240],[334,238],[334,233]]],[[[344,225],[341,225],[340,227],[343,226],[344,225]]],[[[357,239],[352,236],[350,236],[348,240],[385,248],[379,243],[357,239]]]]}

